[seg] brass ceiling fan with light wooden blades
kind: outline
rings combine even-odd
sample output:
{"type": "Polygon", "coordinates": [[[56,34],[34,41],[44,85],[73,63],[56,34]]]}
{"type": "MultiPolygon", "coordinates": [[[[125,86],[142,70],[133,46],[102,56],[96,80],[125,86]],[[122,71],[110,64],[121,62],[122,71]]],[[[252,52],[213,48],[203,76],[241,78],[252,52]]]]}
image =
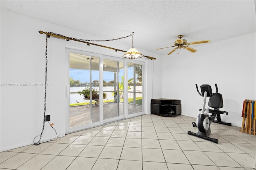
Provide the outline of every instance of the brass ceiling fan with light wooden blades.
{"type": "MultiPolygon", "coordinates": [[[[194,44],[200,44],[200,43],[209,43],[211,42],[210,40],[202,40],[202,41],[198,41],[198,42],[190,42],[187,43],[187,40],[185,39],[181,39],[183,37],[183,35],[178,35],[178,38],[175,42],[174,45],[171,47],[176,47],[174,48],[170,53],[168,53],[168,55],[170,55],[171,53],[173,53],[176,49],[179,48],[184,48],[192,53],[195,53],[197,50],[191,47],[188,47],[188,45],[194,45],[194,44]]],[[[164,48],[169,48],[169,47],[164,47],[164,48]]],[[[157,49],[164,49],[164,48],[157,48],[157,49]]]]}

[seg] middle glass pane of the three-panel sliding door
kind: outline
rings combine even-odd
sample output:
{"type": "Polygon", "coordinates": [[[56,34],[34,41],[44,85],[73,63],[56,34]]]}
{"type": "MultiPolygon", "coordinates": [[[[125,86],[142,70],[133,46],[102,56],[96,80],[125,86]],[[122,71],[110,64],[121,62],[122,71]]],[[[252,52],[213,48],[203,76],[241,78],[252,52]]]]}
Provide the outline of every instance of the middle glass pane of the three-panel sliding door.
{"type": "Polygon", "coordinates": [[[103,59],[103,119],[111,119],[124,115],[122,98],[122,77],[124,76],[124,63],[111,59],[103,59]]]}

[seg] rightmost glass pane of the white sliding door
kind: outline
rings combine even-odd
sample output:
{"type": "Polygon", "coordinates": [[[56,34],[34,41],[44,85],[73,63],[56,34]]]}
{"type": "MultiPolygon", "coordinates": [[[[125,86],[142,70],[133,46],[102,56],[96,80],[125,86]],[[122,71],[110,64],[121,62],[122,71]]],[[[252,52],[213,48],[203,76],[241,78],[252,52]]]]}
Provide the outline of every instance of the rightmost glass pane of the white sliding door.
{"type": "Polygon", "coordinates": [[[143,111],[143,65],[128,63],[128,115],[143,111]]]}

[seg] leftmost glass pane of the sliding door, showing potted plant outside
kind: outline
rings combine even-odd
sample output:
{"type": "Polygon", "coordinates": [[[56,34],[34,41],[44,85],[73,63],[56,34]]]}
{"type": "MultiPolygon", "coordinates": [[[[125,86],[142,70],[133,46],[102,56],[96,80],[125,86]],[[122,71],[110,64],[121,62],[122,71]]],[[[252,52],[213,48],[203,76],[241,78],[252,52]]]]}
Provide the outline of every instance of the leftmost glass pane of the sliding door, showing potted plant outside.
{"type": "Polygon", "coordinates": [[[70,53],[69,60],[70,128],[99,122],[99,57],[70,53]]]}

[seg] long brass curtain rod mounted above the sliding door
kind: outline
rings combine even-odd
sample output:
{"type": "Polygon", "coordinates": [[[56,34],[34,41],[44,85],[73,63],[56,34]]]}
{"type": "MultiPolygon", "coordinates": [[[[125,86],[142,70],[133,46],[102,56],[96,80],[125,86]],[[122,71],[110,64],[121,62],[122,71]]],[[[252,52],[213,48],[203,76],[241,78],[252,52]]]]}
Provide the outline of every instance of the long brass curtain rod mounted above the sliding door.
{"type": "MultiPolygon", "coordinates": [[[[82,41],[82,40],[78,40],[76,38],[70,38],[70,37],[66,37],[66,36],[62,36],[60,34],[55,34],[53,32],[43,32],[43,31],[38,31],[40,34],[46,34],[48,38],[50,37],[53,37],[53,38],[58,38],[58,39],[62,39],[62,40],[66,40],[66,41],[70,41],[70,40],[73,40],[73,41],[76,41],[76,42],[82,42],[82,43],[87,43],[87,45],[96,45],[96,46],[99,46],[99,47],[104,47],[104,48],[108,48],[108,49],[114,49],[115,51],[122,51],[122,52],[125,52],[124,50],[121,50],[121,49],[116,49],[116,48],[112,48],[112,47],[107,47],[107,46],[104,46],[104,45],[98,45],[96,43],[90,43],[90,42],[85,42],[85,41],[82,41]]],[[[154,57],[150,57],[150,56],[146,56],[146,55],[143,55],[144,57],[148,58],[148,59],[156,59],[154,57]]]]}

